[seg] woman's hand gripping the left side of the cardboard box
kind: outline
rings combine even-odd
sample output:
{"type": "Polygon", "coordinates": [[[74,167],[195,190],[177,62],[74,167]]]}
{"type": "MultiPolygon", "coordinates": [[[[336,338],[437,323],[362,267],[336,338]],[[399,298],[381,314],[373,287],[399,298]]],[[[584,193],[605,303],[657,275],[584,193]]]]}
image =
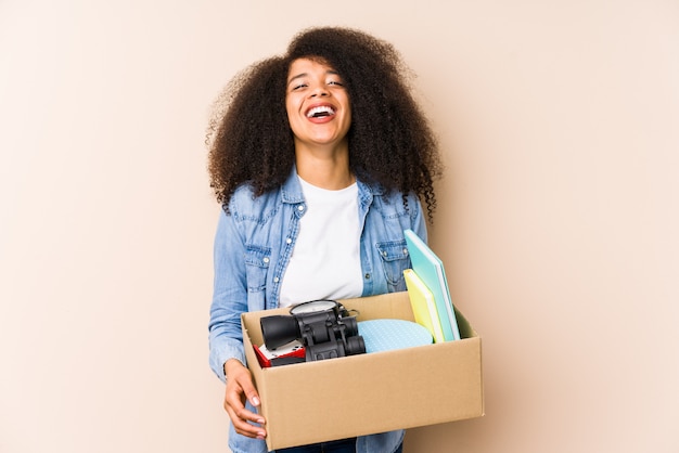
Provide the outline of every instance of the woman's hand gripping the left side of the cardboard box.
{"type": "Polygon", "coordinates": [[[223,406],[231,418],[231,423],[233,423],[235,432],[251,438],[264,439],[267,431],[261,426],[253,425],[264,425],[264,417],[245,409],[246,399],[255,407],[259,406],[259,394],[253,384],[249,370],[239,360],[229,359],[225,363],[225,373],[227,375],[227,393],[223,406]]]}

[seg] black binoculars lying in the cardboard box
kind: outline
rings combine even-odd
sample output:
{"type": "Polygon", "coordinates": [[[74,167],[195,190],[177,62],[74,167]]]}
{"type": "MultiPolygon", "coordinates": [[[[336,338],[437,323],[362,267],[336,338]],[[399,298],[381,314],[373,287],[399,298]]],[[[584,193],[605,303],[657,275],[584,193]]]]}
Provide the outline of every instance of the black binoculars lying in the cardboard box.
{"type": "Polygon", "coordinates": [[[295,339],[305,347],[306,361],[334,359],[366,352],[356,316],[334,300],[311,300],[294,306],[291,315],[261,318],[261,335],[269,350],[295,339]]]}

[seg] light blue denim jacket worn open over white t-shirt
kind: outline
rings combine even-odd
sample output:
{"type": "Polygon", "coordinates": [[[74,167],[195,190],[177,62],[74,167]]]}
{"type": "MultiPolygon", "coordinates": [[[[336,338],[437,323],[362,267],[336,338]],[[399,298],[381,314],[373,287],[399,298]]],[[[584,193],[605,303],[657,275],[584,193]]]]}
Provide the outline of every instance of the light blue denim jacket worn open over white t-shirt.
{"type": "MultiPolygon", "coordinates": [[[[361,181],[358,210],[363,274],[362,296],[406,290],[403,270],[410,268],[403,230],[411,229],[426,241],[422,206],[417,195],[386,194],[361,181]]],[[[282,276],[306,211],[302,186],[293,169],[280,190],[254,197],[247,185],[239,187],[223,210],[215,238],[215,283],[209,320],[209,362],[221,380],[223,363],[245,363],[241,313],[278,307],[282,276]]],[[[332,259],[332,257],[329,257],[332,259]]],[[[254,411],[253,407],[248,407],[254,411]]],[[[390,431],[358,439],[357,451],[392,453],[403,431],[390,431]]],[[[238,435],[231,425],[229,446],[234,453],[264,453],[266,443],[238,435]]]]}

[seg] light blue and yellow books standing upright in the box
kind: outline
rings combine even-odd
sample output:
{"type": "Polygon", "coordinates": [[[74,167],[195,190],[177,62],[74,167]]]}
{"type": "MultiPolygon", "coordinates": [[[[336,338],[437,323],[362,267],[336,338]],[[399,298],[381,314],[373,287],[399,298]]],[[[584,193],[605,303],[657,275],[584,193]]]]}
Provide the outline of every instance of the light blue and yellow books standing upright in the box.
{"type": "Polygon", "coordinates": [[[430,331],[434,342],[460,339],[443,261],[412,230],[403,234],[412,262],[403,277],[415,322],[430,331]]]}

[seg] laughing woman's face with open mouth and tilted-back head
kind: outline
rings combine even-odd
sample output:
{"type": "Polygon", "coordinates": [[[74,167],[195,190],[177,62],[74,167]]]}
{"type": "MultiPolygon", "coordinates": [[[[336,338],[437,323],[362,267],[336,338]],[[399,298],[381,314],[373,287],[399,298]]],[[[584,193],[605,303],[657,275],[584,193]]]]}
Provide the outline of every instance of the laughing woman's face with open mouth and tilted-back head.
{"type": "Polygon", "coordinates": [[[290,65],[285,94],[295,146],[347,146],[351,106],[342,77],[319,60],[297,59],[290,65]]]}

